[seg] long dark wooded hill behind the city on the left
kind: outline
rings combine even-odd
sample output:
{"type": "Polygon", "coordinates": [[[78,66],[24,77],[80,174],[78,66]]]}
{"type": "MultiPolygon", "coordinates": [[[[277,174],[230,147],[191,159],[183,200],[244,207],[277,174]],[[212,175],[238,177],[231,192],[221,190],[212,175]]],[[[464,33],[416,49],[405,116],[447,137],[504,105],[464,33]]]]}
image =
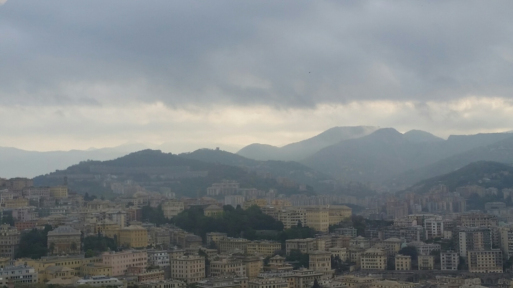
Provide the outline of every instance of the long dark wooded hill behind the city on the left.
{"type": "MultiPolygon", "coordinates": [[[[229,153],[229,152],[225,152],[229,153]]],[[[193,153],[189,153],[194,155],[193,153]]],[[[232,153],[229,153],[232,154],[232,153]]],[[[233,154],[235,155],[235,154],[233,154]]],[[[236,155],[238,156],[238,155],[236,155]]],[[[250,160],[250,159],[248,159],[250,160]]],[[[254,161],[254,160],[251,160],[254,161]]],[[[277,161],[280,162],[280,161],[277,161]]],[[[281,164],[277,163],[277,167],[281,164]]],[[[289,164],[290,165],[290,164],[289,164]]],[[[298,167],[301,168],[299,163],[298,167]]],[[[282,167],[284,175],[274,176],[289,176],[294,174],[290,170],[291,166],[282,167]],[[286,172],[286,173],[285,173],[286,172]]],[[[305,168],[309,171],[311,169],[305,168]]],[[[278,168],[277,168],[278,171],[278,168]]],[[[304,171],[302,171],[303,174],[304,171]]],[[[110,188],[103,185],[105,180],[124,182],[125,180],[133,180],[141,184],[141,186],[148,186],[149,190],[159,190],[160,187],[171,188],[179,196],[195,197],[198,195],[205,195],[206,189],[214,182],[222,180],[236,180],[241,183],[241,188],[256,188],[259,190],[277,189],[279,193],[283,194],[299,194],[297,188],[285,188],[280,186],[272,178],[263,178],[253,171],[248,171],[247,168],[227,165],[223,163],[205,162],[197,159],[186,158],[171,153],[162,153],[160,150],[143,150],[139,152],[130,153],[120,158],[107,161],[82,161],[65,170],[56,171],[50,174],[41,175],[34,178],[36,185],[53,185],[60,184],[62,177],[68,176],[69,186],[71,189],[80,193],[88,192],[91,195],[103,196],[108,195],[110,188]],[[207,171],[206,177],[199,178],[181,178],[178,180],[161,179],[154,177],[154,175],[147,173],[99,173],[100,177],[92,177],[91,167],[143,167],[143,168],[177,168],[187,166],[190,171],[207,171]],[[88,177],[90,175],[90,177],[88,177]],[[113,179],[112,176],[115,176],[113,179]],[[82,178],[76,178],[82,177],[82,178]]],[[[312,177],[313,178],[313,177],[312,177]]],[[[313,180],[312,180],[313,181],[313,180]]],[[[308,193],[313,193],[309,191],[308,193]]],[[[111,196],[111,195],[110,195],[111,196]]]]}

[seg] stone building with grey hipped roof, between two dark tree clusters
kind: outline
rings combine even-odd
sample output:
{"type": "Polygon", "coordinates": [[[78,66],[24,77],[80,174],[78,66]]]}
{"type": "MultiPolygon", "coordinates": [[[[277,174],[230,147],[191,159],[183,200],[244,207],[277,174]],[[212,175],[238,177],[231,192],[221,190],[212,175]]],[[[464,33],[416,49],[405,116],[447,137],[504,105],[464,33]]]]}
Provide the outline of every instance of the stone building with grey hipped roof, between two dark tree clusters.
{"type": "Polygon", "coordinates": [[[80,253],[81,235],[80,231],[69,226],[57,227],[48,232],[48,250],[53,254],[80,253]]]}

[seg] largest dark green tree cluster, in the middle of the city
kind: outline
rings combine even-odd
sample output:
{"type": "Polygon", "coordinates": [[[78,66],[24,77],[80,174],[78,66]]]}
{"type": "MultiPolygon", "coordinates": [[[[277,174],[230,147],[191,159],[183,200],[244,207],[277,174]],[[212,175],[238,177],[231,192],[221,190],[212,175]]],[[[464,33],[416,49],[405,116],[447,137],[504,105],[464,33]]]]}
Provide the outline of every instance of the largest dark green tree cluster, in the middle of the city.
{"type": "Polygon", "coordinates": [[[173,217],[174,224],[185,231],[205,238],[207,232],[223,232],[230,237],[243,237],[257,240],[256,230],[283,230],[283,223],[262,213],[257,205],[243,210],[230,205],[223,207],[220,217],[207,217],[203,209],[192,207],[173,217]]]}

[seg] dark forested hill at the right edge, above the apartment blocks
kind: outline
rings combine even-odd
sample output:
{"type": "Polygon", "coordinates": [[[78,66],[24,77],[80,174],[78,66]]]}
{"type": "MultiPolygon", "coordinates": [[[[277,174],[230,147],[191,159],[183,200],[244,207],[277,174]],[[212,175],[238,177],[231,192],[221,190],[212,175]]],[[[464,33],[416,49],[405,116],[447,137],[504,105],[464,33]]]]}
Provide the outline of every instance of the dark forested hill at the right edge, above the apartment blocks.
{"type": "Polygon", "coordinates": [[[426,193],[438,184],[445,184],[449,191],[467,185],[478,185],[497,189],[513,187],[513,167],[494,161],[477,161],[456,171],[422,180],[411,186],[407,191],[426,193]]]}

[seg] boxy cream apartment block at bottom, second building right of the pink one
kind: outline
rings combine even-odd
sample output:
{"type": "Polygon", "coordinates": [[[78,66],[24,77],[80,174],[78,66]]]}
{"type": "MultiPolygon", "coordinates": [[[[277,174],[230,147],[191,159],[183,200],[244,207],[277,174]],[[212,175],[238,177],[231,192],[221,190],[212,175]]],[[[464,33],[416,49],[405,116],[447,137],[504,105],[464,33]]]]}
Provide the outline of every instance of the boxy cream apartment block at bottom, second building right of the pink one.
{"type": "Polygon", "coordinates": [[[171,278],[187,284],[205,278],[205,258],[199,255],[186,255],[171,259],[171,278]]]}

